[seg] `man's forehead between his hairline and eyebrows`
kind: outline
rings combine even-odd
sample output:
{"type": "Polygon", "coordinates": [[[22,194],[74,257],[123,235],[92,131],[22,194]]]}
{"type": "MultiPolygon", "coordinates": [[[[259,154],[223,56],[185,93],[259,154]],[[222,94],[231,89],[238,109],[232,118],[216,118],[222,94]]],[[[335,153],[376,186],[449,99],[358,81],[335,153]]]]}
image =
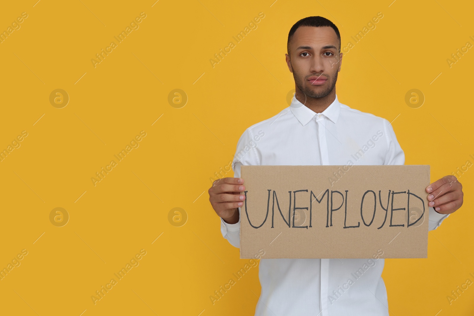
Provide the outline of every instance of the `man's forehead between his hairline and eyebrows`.
{"type": "Polygon", "coordinates": [[[339,46],[339,40],[332,27],[298,27],[290,43],[292,51],[299,46],[319,49],[326,45],[339,46]]]}

